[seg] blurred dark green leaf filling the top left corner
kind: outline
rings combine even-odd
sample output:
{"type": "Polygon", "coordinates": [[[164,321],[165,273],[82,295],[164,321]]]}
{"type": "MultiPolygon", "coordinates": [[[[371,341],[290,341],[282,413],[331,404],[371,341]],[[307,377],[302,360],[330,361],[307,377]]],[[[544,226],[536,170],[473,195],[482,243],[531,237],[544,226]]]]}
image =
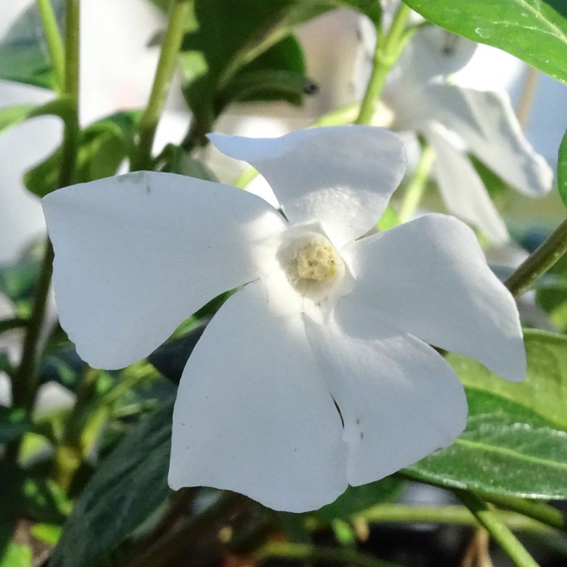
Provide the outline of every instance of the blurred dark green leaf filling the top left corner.
{"type": "MultiPolygon", "coordinates": [[[[62,29],[65,2],[51,0],[51,4],[59,29],[62,29]]],[[[35,2],[0,39],[0,79],[55,89],[53,64],[35,2]]]]}

